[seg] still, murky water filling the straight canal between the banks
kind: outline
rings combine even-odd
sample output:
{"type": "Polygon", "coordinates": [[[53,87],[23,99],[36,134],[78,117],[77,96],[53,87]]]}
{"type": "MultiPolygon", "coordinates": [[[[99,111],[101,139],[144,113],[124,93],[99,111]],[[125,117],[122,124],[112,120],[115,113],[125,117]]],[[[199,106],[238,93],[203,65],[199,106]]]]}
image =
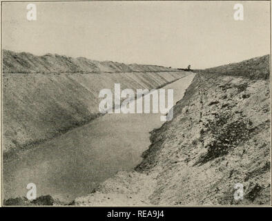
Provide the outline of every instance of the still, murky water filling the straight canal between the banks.
{"type": "MultiPolygon", "coordinates": [[[[182,99],[194,75],[183,77],[173,88],[174,104],[182,99]]],[[[69,202],[87,195],[119,170],[132,170],[141,162],[149,132],[164,122],[162,114],[106,114],[90,124],[26,151],[19,160],[3,165],[4,198],[26,196],[35,183],[37,196],[52,195],[69,202]]]]}

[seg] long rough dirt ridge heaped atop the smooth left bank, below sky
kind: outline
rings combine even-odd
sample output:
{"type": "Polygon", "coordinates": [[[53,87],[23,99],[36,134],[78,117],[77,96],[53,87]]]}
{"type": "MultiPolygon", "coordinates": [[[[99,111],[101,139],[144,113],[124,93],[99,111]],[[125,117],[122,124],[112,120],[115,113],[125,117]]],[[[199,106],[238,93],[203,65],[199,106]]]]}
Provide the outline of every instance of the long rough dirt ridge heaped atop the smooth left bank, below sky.
{"type": "Polygon", "coordinates": [[[28,52],[3,50],[3,73],[118,73],[171,70],[163,66],[93,61],[85,57],[64,55],[32,55],[28,52]]]}

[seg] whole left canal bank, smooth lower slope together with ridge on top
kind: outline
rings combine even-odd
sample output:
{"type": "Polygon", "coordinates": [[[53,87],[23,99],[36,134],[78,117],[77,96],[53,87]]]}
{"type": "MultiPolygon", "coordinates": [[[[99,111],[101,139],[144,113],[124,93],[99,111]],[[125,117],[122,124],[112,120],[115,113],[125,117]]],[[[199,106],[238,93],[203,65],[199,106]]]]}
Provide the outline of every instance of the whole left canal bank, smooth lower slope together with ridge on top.
{"type": "Polygon", "coordinates": [[[6,50],[3,55],[4,160],[18,150],[32,148],[97,117],[101,101],[98,95],[103,88],[113,91],[114,84],[119,83],[122,89],[151,89],[187,75],[184,71],[166,72],[164,69],[167,68],[163,67],[124,64],[107,69],[117,73],[102,73],[101,70],[106,70],[106,67],[115,63],[92,63],[88,59],[72,59],[59,55],[50,55],[50,59],[44,60],[46,56],[37,57],[29,53],[6,50]],[[69,73],[79,71],[74,70],[76,63],[71,63],[79,60],[88,61],[78,65],[83,72],[93,70],[92,64],[97,64],[98,68],[95,70],[99,73],[69,73]],[[130,72],[118,73],[123,70],[130,72]],[[6,73],[7,71],[10,73],[6,73]],[[63,71],[66,73],[62,73],[63,71]]]}

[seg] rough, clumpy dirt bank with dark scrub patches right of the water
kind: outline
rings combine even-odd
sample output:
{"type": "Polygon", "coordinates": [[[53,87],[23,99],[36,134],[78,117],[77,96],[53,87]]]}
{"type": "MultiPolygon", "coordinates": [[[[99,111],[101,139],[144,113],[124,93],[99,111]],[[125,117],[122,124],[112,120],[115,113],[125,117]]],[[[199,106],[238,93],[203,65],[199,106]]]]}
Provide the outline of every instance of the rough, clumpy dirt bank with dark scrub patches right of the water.
{"type": "Polygon", "coordinates": [[[135,171],[120,171],[75,204],[270,204],[269,56],[230,69],[199,71],[135,171]],[[233,197],[237,183],[243,200],[233,197]]]}

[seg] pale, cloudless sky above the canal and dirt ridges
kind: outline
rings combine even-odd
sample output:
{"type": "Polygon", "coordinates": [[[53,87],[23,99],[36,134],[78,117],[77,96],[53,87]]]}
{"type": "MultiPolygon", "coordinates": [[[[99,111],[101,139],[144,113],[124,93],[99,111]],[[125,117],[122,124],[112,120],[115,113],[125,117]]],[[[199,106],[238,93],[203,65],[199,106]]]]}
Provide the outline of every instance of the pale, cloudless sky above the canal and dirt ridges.
{"type": "Polygon", "coordinates": [[[210,68],[270,52],[269,1],[3,2],[3,48],[127,64],[210,68]],[[33,2],[32,2],[33,3],[33,2]],[[235,21],[235,3],[244,20],[235,21]]]}

